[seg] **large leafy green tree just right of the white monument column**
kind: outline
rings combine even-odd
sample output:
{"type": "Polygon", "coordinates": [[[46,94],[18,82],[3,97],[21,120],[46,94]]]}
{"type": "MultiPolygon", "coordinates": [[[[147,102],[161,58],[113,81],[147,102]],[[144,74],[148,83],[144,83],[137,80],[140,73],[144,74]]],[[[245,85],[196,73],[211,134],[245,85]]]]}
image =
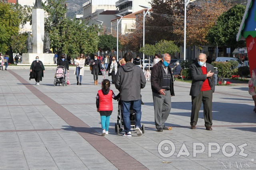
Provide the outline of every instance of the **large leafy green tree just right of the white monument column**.
{"type": "Polygon", "coordinates": [[[86,27],[82,20],[66,18],[66,0],[46,0],[42,3],[48,14],[45,18],[45,30],[51,39],[54,51],[69,54],[94,53],[97,51],[98,27],[86,27]]]}

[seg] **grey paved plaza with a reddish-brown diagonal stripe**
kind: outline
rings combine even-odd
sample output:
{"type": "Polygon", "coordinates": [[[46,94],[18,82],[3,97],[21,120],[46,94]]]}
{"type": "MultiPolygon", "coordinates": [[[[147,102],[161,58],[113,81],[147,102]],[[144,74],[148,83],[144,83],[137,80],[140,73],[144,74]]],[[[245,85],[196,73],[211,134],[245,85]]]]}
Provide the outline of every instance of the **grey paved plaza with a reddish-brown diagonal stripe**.
{"type": "Polygon", "coordinates": [[[166,121],[172,130],[157,132],[147,81],[141,92],[145,133],[115,133],[118,102],[113,100],[110,133],[103,137],[96,111],[101,86],[94,86],[90,70],[82,86],[76,85],[74,67],[70,86],[54,86],[54,72],[46,66],[36,86],[28,67],[0,70],[0,170],[256,169],[256,113],[246,83],[216,86],[213,131],[206,131],[202,107],[196,129],[190,129],[191,84],[175,81],[166,121]]]}

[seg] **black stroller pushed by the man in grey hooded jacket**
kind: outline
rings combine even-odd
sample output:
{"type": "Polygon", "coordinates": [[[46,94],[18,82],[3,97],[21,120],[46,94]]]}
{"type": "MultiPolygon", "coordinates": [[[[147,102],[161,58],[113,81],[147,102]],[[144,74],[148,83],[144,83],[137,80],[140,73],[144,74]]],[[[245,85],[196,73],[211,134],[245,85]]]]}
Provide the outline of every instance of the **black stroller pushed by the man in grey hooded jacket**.
{"type": "MultiPolygon", "coordinates": [[[[130,121],[131,121],[131,130],[135,131],[135,114],[134,110],[132,109],[132,104],[130,107],[130,121]]],[[[124,126],[124,121],[123,121],[123,111],[122,111],[122,103],[121,100],[118,101],[118,114],[117,114],[117,123],[115,124],[115,131],[116,134],[121,132],[122,126],[124,126]]],[[[142,133],[145,133],[145,126],[142,124],[141,129],[142,133]]]]}

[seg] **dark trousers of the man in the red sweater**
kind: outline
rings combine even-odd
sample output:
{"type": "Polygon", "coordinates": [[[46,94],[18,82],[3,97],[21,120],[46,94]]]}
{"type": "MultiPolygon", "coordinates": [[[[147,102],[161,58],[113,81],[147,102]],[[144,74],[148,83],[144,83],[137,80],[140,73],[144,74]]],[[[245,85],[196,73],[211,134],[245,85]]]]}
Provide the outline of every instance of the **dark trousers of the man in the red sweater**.
{"type": "Polygon", "coordinates": [[[198,96],[192,96],[192,109],[190,117],[190,125],[195,126],[198,121],[198,114],[201,104],[204,105],[204,125],[212,126],[212,90],[201,91],[198,96]]]}

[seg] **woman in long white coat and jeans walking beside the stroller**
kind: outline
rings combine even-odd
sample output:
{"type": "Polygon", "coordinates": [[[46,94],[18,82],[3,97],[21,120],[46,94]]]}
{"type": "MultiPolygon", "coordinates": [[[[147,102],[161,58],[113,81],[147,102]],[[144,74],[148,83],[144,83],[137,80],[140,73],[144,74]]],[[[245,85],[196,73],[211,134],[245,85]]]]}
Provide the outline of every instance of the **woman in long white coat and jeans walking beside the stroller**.
{"type": "Polygon", "coordinates": [[[84,54],[80,54],[80,57],[77,59],[74,59],[74,64],[76,65],[76,70],[74,71],[74,74],[76,75],[76,85],[82,85],[82,76],[84,75],[84,63],[85,63],[85,57],[84,54]],[[80,82],[79,82],[80,78],[80,82]]]}

